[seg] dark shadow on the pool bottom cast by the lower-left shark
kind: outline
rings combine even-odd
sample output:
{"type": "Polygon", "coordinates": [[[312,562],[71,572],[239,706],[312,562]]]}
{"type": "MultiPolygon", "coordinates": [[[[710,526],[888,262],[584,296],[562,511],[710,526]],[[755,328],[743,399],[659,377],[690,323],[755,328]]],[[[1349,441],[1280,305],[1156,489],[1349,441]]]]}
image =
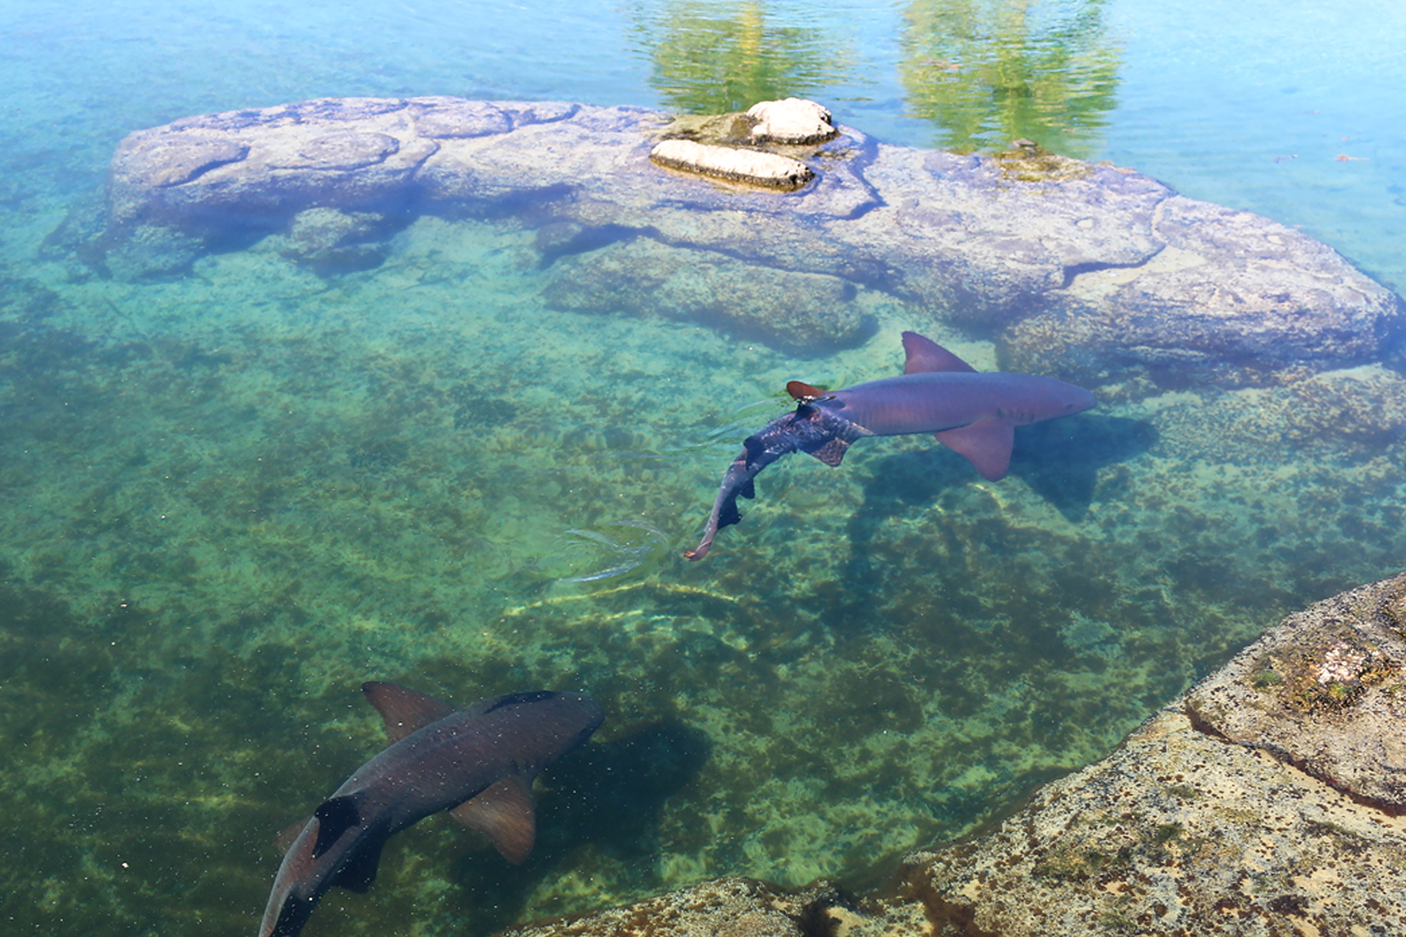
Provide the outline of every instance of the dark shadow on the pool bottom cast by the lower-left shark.
{"type": "Polygon", "coordinates": [[[664,802],[697,777],[711,744],[703,730],[664,719],[623,739],[585,746],[554,765],[544,775],[550,793],[537,805],[537,846],[527,864],[509,865],[492,850],[471,853],[457,864],[463,899],[472,907],[467,937],[492,934],[522,920],[527,895],[548,872],[581,865],[576,877],[589,881],[589,860],[574,857],[586,844],[652,868],[638,860],[659,848],[664,802]]]}

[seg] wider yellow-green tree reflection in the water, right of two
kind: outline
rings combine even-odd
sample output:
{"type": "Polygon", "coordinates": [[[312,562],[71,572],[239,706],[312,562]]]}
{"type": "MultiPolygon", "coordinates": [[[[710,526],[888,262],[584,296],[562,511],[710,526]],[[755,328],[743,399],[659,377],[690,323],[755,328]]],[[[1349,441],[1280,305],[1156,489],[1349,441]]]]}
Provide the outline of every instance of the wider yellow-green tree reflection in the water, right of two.
{"type": "Polygon", "coordinates": [[[939,146],[1097,148],[1121,65],[1102,0],[912,0],[903,15],[898,73],[939,146]]]}

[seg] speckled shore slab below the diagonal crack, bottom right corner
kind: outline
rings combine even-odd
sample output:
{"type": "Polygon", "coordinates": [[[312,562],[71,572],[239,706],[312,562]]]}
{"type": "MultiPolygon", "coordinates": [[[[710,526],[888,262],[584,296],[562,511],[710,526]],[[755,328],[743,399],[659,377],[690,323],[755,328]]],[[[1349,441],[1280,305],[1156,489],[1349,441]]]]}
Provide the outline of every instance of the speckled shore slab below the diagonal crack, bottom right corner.
{"type": "Polygon", "coordinates": [[[1406,823],[1168,709],[901,878],[957,934],[1399,933],[1406,823]]]}

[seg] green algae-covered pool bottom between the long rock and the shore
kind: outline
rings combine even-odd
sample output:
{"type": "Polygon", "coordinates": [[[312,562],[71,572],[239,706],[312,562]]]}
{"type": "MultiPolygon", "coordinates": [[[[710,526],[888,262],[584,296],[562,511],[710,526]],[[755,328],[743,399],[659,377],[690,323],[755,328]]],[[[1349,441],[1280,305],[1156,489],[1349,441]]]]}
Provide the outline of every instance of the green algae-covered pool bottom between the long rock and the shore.
{"type": "Polygon", "coordinates": [[[370,678],[586,689],[609,716],[544,777],[527,867],[430,820],[312,927],[860,877],[1101,757],[1403,546],[1400,443],[1286,450],[1251,429],[1263,400],[1182,393],[1022,431],[1000,484],[918,438],[786,460],[683,563],[786,380],[893,373],[903,328],[990,349],[897,301],[806,363],[554,311],[536,243],[425,218],[340,276],[260,245],[166,283],[7,281],[0,803],[25,822],[0,850],[7,892],[39,896],[17,926],[247,931],[274,833],[382,744],[370,678]]]}

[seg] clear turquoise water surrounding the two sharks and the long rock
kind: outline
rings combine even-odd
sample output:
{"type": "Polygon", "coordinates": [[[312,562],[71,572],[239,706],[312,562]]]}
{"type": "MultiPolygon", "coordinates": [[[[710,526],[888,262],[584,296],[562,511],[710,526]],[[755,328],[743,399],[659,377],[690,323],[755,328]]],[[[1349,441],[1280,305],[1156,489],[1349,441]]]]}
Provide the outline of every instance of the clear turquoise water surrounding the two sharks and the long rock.
{"type": "Polygon", "coordinates": [[[373,678],[609,716],[538,785],[526,867],[429,820],[309,934],[488,933],[720,874],[862,886],[1406,546],[1399,401],[1324,422],[1302,388],[1212,387],[1022,433],[995,485],[917,438],[783,461],[686,564],[785,381],[893,373],[904,328],[991,346],[883,295],[869,342],[807,362],[554,310],[510,217],[420,218],[367,270],[269,241],[120,283],[44,242],[125,134],[315,96],[804,93],[889,142],[1109,159],[1400,288],[1406,15],[1319,6],[0,10],[0,917],[249,933],[276,831],[380,748],[373,678]]]}

